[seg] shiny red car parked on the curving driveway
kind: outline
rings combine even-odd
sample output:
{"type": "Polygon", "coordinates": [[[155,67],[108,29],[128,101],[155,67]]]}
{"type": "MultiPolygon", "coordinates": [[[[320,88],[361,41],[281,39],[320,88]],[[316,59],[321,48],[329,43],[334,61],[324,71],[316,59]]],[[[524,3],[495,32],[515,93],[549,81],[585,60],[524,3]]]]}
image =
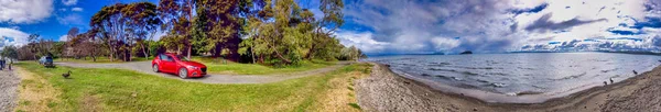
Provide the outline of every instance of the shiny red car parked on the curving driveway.
{"type": "Polygon", "coordinates": [[[152,69],[155,72],[167,72],[178,75],[181,78],[204,77],[206,66],[175,54],[161,54],[152,60],[152,69]]]}

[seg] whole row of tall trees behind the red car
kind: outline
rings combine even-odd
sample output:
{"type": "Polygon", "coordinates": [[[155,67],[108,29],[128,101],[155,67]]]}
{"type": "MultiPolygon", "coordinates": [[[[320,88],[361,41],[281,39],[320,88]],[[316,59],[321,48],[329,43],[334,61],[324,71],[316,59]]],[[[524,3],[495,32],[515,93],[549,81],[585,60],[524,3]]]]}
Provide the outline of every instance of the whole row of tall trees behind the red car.
{"type": "Polygon", "coordinates": [[[334,35],[344,24],[343,8],[342,0],[319,0],[323,15],[317,19],[293,0],[115,3],[91,16],[90,30],[71,29],[66,42],[44,41],[33,34],[28,45],[9,48],[18,51],[18,59],[51,55],[131,61],[177,53],[188,58],[206,55],[270,65],[356,60],[365,57],[360,49],[342,45],[334,35]],[[154,41],[159,32],[165,34],[154,41]]]}

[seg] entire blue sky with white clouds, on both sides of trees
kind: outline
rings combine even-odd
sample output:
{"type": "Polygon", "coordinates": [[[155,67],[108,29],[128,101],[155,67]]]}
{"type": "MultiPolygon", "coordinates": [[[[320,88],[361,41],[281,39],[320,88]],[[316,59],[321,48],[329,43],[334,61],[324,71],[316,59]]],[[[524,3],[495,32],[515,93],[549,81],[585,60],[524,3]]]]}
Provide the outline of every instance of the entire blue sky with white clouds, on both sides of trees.
{"type": "MultiPolygon", "coordinates": [[[[145,0],[0,0],[2,45],[64,41],[101,7],[145,0]]],[[[158,2],[158,0],[150,0],[158,2]]],[[[322,16],[318,0],[295,0],[322,16]]],[[[661,52],[661,0],[345,0],[335,36],[367,54],[661,52]]]]}

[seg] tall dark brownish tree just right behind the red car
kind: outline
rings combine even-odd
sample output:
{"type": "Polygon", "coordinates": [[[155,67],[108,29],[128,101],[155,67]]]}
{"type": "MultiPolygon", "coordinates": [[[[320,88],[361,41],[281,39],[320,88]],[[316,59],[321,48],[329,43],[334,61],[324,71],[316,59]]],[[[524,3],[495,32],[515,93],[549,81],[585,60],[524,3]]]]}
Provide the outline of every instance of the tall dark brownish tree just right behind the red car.
{"type": "Polygon", "coordinates": [[[196,2],[197,15],[194,19],[194,44],[215,57],[230,55],[238,60],[237,49],[241,40],[240,5],[250,0],[199,0],[196,2]],[[197,33],[196,33],[197,32],[197,33]]]}

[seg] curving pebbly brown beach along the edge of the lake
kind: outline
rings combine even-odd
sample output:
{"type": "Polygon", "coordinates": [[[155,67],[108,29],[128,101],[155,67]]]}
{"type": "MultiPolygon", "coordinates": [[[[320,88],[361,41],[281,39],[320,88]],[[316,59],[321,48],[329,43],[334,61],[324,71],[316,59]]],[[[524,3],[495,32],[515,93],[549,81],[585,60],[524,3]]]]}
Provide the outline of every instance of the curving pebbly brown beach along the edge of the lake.
{"type": "Polygon", "coordinates": [[[370,77],[357,81],[366,111],[653,111],[661,110],[661,67],[626,80],[597,86],[540,103],[494,103],[444,92],[371,63],[370,77]]]}

